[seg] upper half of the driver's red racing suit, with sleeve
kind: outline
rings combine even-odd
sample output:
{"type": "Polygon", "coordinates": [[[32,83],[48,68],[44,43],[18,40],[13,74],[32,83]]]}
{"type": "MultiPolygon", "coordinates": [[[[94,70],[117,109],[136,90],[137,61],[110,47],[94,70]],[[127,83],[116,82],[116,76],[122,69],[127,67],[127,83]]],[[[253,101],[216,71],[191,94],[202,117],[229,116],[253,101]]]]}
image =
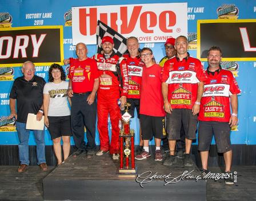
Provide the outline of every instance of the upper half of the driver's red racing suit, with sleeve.
{"type": "Polygon", "coordinates": [[[120,72],[122,77],[122,87],[118,81],[117,74],[117,63],[120,57],[118,55],[111,55],[110,58],[105,58],[102,54],[95,54],[93,59],[97,61],[97,66],[99,70],[99,89],[102,90],[120,90],[121,96],[125,95],[127,97],[128,93],[128,75],[126,61],[123,58],[120,66],[120,72]]]}

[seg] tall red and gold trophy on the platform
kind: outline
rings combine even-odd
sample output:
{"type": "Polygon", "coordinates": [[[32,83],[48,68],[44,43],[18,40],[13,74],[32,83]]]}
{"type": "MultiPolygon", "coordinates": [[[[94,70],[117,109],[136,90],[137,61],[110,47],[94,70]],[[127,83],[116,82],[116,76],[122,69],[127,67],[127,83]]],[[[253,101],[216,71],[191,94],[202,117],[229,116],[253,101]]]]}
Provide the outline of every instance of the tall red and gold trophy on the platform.
{"type": "Polygon", "coordinates": [[[119,174],[136,174],[134,158],[134,130],[130,130],[130,118],[128,113],[130,103],[125,103],[125,114],[122,115],[122,129],[120,131],[120,167],[119,174]],[[125,165],[124,165],[125,163],[125,165]]]}

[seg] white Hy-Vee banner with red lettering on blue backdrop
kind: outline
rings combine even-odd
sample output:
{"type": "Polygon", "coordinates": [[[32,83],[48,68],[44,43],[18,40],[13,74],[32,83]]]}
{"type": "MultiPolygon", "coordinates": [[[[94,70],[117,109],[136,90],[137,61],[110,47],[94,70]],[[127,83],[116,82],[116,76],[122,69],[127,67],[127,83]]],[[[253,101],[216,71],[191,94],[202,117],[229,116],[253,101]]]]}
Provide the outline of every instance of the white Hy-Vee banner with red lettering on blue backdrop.
{"type": "Polygon", "coordinates": [[[134,36],[142,43],[165,42],[187,35],[187,3],[72,7],[73,45],[82,41],[96,44],[98,20],[126,38],[134,36]]]}

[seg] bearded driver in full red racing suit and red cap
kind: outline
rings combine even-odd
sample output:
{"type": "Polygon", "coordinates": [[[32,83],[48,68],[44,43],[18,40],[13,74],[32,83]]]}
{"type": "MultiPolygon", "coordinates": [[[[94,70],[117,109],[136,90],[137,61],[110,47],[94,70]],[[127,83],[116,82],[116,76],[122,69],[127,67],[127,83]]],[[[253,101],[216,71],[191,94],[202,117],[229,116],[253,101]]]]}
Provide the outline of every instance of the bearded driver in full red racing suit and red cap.
{"type": "Polygon", "coordinates": [[[123,107],[128,93],[128,72],[124,58],[115,54],[114,41],[111,37],[102,38],[103,54],[95,54],[99,70],[99,90],[97,99],[98,131],[101,148],[96,155],[100,156],[110,151],[114,160],[119,159],[119,123],[121,111],[118,100],[123,107]],[[108,119],[111,120],[111,143],[109,140],[108,119]]]}

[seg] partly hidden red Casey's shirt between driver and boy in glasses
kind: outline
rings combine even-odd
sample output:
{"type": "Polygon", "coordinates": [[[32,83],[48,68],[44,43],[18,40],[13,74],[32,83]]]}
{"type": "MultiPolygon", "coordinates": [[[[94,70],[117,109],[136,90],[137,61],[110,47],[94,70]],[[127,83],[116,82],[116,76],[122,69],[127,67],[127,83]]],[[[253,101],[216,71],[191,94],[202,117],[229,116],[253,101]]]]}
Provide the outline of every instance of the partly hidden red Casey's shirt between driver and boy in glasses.
{"type": "Polygon", "coordinates": [[[131,58],[129,54],[125,54],[123,57],[126,59],[129,77],[127,98],[139,99],[141,97],[141,77],[144,63],[140,57],[131,58]]]}

